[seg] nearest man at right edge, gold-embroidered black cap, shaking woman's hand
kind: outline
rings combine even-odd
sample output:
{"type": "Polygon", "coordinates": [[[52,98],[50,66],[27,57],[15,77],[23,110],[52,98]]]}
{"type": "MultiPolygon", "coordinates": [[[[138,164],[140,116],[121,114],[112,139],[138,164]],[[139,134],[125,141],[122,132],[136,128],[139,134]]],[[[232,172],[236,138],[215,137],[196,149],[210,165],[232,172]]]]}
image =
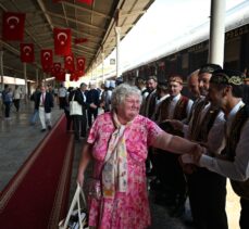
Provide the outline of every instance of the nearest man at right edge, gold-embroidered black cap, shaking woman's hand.
{"type": "Polygon", "coordinates": [[[209,99],[226,117],[225,149],[222,156],[194,153],[196,165],[231,179],[240,196],[240,229],[249,228],[249,107],[242,102],[242,73],[215,71],[210,80],[209,99]]]}

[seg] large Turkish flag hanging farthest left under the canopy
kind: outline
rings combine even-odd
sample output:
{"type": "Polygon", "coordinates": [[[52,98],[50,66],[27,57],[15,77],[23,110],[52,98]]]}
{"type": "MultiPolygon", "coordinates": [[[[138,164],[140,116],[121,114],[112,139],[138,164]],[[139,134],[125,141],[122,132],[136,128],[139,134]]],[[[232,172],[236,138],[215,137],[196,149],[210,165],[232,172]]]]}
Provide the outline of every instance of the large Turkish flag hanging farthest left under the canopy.
{"type": "Polygon", "coordinates": [[[2,39],[23,40],[25,13],[3,12],[2,39]]]}

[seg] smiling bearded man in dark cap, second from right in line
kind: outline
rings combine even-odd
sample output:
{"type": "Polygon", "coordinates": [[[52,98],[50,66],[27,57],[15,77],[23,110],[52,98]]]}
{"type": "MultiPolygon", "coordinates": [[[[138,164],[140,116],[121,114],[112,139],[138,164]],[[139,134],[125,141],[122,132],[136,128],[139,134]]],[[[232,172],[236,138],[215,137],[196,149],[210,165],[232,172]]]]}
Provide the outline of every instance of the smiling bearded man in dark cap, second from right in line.
{"type": "MultiPolygon", "coordinates": [[[[199,101],[195,105],[190,122],[187,125],[179,125],[185,138],[208,145],[209,154],[212,156],[221,154],[225,124],[224,113],[211,104],[207,98],[210,78],[215,69],[221,69],[221,66],[204,64],[200,67],[198,73],[199,101]]],[[[175,120],[172,120],[171,124],[177,127],[175,120]]],[[[226,178],[206,168],[191,167],[192,170],[189,170],[188,166],[184,166],[184,169],[185,173],[191,173],[186,177],[195,227],[198,229],[227,229],[226,178]]]]}

